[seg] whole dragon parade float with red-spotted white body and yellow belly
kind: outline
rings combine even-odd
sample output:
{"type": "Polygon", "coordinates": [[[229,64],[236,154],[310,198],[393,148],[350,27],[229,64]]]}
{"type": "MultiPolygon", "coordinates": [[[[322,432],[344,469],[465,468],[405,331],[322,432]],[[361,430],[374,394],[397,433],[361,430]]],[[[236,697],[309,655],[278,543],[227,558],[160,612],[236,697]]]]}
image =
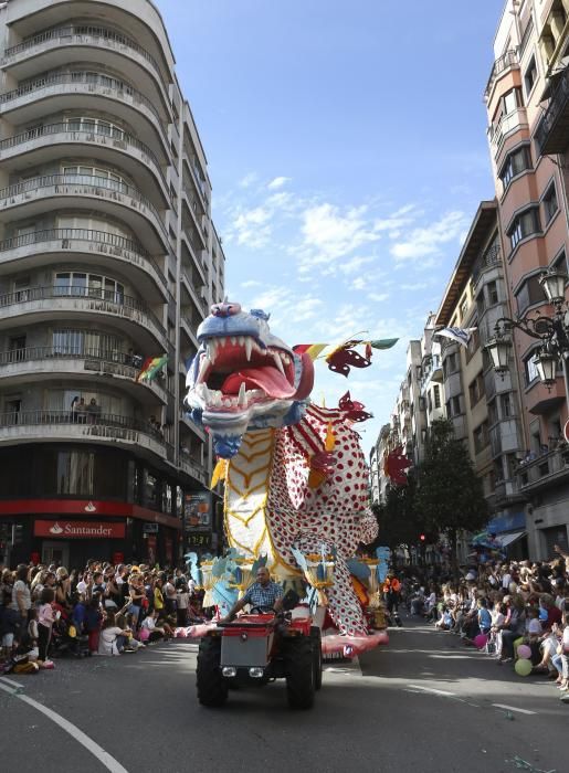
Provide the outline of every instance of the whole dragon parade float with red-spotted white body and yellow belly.
{"type": "MultiPolygon", "coordinates": [[[[352,428],[370,414],[349,392],[338,407],[310,402],[313,357],[324,345],[291,348],[271,332],[264,311],[214,305],[197,335],[185,405],[212,438],[218,462],[211,487],[224,484],[230,546],[199,566],[191,557],[204,605],[226,614],[265,564],[302,600],[291,616],[310,615],[325,656],[351,657],[387,644],[379,593],[387,566],[381,555],[357,555],[378,531],[352,428]]],[[[330,370],[346,375],[350,366],[367,367],[370,343],[367,357],[357,343],[365,342],[336,349],[330,370]]],[[[203,633],[198,626],[188,635],[203,633]]]]}

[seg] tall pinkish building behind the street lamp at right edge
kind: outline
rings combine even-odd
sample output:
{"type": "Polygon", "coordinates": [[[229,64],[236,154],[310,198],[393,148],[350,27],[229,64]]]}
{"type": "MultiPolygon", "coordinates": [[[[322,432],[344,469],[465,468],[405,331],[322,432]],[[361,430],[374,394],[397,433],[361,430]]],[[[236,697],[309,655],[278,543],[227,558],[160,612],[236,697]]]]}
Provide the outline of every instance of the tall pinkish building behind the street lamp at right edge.
{"type": "MultiPolygon", "coordinates": [[[[514,317],[551,315],[539,285],[549,267],[567,272],[569,80],[567,0],[508,0],[486,87],[488,142],[514,317]]],[[[568,546],[569,468],[561,453],[568,419],[562,370],[551,390],[538,378],[536,339],[513,332],[526,447],[516,472],[525,498],[529,554],[568,546]]]]}

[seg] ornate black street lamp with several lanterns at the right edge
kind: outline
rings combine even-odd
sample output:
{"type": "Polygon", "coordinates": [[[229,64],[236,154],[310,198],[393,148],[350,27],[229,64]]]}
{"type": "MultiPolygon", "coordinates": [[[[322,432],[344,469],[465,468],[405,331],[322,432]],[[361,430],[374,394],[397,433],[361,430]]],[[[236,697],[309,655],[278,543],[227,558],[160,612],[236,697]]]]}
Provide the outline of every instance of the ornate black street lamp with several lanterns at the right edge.
{"type": "Polygon", "coordinates": [[[500,317],[494,326],[494,336],[484,347],[488,352],[494,370],[504,378],[508,370],[508,354],[512,346],[509,332],[513,328],[521,330],[527,336],[541,341],[535,354],[539,380],[550,390],[556,381],[557,366],[563,367],[566,399],[569,404],[569,382],[567,360],[569,357],[569,305],[565,298],[567,274],[549,269],[541,274],[541,285],[547,300],[554,307],[554,315],[546,317],[537,314],[535,317],[510,319],[500,317]]]}

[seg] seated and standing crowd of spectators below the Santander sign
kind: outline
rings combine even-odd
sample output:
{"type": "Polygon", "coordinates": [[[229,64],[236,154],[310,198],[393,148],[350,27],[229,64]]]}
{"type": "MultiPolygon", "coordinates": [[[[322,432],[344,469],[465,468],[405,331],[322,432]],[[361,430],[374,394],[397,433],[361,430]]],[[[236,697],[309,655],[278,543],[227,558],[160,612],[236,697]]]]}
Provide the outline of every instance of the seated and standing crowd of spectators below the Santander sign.
{"type": "Polygon", "coordinates": [[[20,564],[0,575],[0,669],[53,668],[52,655],[123,655],[201,622],[180,569],[92,560],[84,570],[20,564]]]}

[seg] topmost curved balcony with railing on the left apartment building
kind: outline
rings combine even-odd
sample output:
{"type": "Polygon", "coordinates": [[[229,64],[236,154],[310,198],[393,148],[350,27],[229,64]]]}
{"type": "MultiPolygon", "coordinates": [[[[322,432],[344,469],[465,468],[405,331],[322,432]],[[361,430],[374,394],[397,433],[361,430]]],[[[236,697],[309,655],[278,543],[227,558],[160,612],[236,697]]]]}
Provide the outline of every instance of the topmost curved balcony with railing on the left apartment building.
{"type": "Polygon", "coordinates": [[[87,24],[45,30],[7,49],[2,66],[23,81],[65,66],[70,61],[86,59],[124,73],[144,93],[152,95],[155,105],[161,107],[162,119],[169,120],[168,89],[158,62],[146,49],[117,30],[87,24]]]}

